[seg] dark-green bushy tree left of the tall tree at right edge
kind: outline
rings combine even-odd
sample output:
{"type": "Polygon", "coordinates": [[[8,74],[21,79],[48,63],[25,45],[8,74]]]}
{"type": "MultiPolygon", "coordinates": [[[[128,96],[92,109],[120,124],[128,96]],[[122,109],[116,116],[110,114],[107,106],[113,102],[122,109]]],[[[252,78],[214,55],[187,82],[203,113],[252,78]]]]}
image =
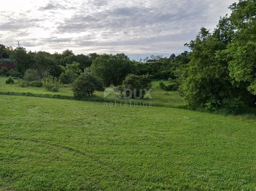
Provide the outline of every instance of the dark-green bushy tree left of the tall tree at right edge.
{"type": "Polygon", "coordinates": [[[191,61],[182,74],[182,94],[191,108],[220,108],[225,99],[234,96],[228,64],[215,57],[215,52],[224,50],[226,44],[202,28],[187,46],[192,52],[191,61]]]}

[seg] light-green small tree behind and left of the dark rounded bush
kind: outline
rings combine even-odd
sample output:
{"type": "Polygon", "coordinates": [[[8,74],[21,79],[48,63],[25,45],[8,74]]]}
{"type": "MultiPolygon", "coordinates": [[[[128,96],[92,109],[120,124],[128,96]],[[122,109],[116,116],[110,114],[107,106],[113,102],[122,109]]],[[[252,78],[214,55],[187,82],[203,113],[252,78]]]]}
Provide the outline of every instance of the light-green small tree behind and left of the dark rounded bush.
{"type": "Polygon", "coordinates": [[[71,84],[74,80],[82,73],[80,69],[80,64],[78,62],[73,62],[72,64],[67,64],[64,72],[61,73],[59,79],[63,84],[71,84]]]}

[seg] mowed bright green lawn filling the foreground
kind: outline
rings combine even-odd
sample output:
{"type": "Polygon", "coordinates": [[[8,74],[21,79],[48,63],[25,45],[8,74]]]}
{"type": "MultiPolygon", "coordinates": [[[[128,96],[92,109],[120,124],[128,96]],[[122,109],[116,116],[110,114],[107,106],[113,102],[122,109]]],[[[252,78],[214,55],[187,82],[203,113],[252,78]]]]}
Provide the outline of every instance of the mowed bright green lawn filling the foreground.
{"type": "Polygon", "coordinates": [[[0,190],[256,190],[256,120],[0,95],[0,190]]]}

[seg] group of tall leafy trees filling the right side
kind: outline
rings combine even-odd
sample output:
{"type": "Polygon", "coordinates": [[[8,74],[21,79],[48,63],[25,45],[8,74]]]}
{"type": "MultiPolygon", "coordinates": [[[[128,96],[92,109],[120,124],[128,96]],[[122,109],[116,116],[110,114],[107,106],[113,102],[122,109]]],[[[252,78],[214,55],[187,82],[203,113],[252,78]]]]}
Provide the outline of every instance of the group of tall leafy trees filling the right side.
{"type": "Polygon", "coordinates": [[[202,28],[179,88],[191,108],[239,112],[256,103],[256,0],[230,6],[210,33],[202,28]]]}

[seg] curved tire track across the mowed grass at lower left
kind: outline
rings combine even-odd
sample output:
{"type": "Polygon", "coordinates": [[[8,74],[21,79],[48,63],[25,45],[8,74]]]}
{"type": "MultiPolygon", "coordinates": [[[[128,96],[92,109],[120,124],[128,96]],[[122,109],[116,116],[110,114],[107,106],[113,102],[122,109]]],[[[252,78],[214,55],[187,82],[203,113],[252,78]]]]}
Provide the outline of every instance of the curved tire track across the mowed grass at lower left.
{"type": "MultiPolygon", "coordinates": [[[[129,183],[131,183],[131,184],[129,184],[129,187],[130,187],[130,185],[132,185],[133,186],[132,190],[136,190],[136,184],[135,184],[136,180],[132,179],[129,176],[126,176],[118,168],[113,168],[112,166],[109,166],[108,164],[104,163],[102,160],[99,160],[98,158],[92,157],[91,155],[86,154],[83,151],[80,151],[78,149],[74,149],[74,148],[71,148],[71,147],[62,146],[62,145],[58,145],[58,144],[54,144],[54,143],[50,143],[50,142],[45,142],[43,140],[30,140],[30,139],[23,139],[23,138],[7,138],[7,137],[0,137],[0,139],[17,140],[17,141],[36,143],[36,144],[40,144],[40,145],[48,145],[48,146],[52,146],[52,147],[56,147],[56,148],[66,150],[68,152],[76,153],[77,155],[80,155],[80,156],[82,155],[82,156],[86,157],[87,159],[89,159],[93,162],[99,163],[100,166],[104,166],[105,169],[108,169],[108,170],[114,172],[117,176],[120,177],[121,180],[124,180],[125,182],[128,181],[129,183]]],[[[104,190],[104,189],[102,189],[102,190],[104,190]]]]}

